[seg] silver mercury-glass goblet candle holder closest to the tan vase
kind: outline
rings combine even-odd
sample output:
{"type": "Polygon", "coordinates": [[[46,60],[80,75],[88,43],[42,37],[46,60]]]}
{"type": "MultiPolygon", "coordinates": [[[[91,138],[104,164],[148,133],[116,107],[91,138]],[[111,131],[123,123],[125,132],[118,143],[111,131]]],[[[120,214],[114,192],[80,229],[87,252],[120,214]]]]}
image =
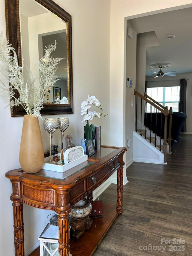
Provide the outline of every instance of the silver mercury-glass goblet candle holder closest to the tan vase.
{"type": "Polygon", "coordinates": [[[49,160],[46,161],[47,164],[55,164],[55,161],[51,160],[51,144],[52,144],[52,134],[58,129],[58,120],[55,117],[46,117],[43,122],[43,128],[49,133],[49,160]]]}

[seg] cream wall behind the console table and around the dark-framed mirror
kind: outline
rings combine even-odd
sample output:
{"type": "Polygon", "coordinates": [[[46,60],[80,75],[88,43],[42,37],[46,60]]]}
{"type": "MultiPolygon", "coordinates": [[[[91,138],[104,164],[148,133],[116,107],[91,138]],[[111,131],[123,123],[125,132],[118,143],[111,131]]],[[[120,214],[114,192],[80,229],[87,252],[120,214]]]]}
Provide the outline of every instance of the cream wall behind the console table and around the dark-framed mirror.
{"type": "MultiPolygon", "coordinates": [[[[109,116],[94,120],[101,125],[102,144],[125,146],[125,52],[126,19],[131,15],[155,11],[158,0],[55,0],[72,15],[73,47],[73,89],[74,114],[67,115],[70,126],[65,134],[74,138],[76,145],[83,137],[84,125],[81,125],[80,103],[87,95],[95,95],[109,116]],[[139,8],[138,8],[139,7],[139,8]],[[110,75],[111,74],[111,75],[110,75]],[[118,131],[118,133],[117,133],[118,131]]],[[[192,3],[192,0],[161,1],[161,6],[171,8],[192,3]]],[[[0,30],[6,34],[4,0],[0,0],[0,30]]],[[[131,91],[131,93],[133,93],[131,91]]],[[[4,174],[19,168],[19,144],[22,129],[22,117],[10,117],[10,109],[4,107],[6,100],[0,96],[0,141],[1,141],[1,233],[2,255],[14,255],[13,216],[10,194],[12,186],[4,174]]],[[[128,103],[129,104],[129,103],[128,103]]],[[[129,119],[129,116],[126,116],[129,119]]],[[[44,119],[44,116],[43,116],[44,119]]],[[[128,129],[133,126],[133,120],[128,129]]],[[[45,149],[48,148],[48,134],[42,128],[45,149]]],[[[53,144],[59,145],[60,133],[56,131],[53,144]]],[[[38,241],[37,238],[47,223],[49,211],[24,206],[25,251],[38,241]],[[40,221],[36,221],[40,219],[40,221]]]]}

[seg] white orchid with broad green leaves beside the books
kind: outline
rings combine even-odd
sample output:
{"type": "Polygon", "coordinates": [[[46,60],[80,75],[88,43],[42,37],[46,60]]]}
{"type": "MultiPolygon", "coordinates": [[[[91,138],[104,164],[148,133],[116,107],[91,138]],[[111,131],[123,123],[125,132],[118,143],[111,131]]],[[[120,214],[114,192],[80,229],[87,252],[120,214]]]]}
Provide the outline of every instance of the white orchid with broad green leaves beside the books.
{"type": "Polygon", "coordinates": [[[103,113],[99,113],[96,112],[95,110],[89,111],[91,106],[95,106],[98,107],[101,111],[103,111],[103,109],[101,108],[101,103],[99,102],[98,99],[96,99],[96,97],[93,96],[89,96],[88,98],[85,99],[84,101],[82,101],[81,103],[81,115],[84,115],[82,123],[86,122],[85,125],[85,138],[88,139],[93,139],[95,136],[95,125],[91,124],[89,125],[89,121],[93,120],[94,117],[99,117],[101,118],[101,116],[107,116],[103,115],[103,113]]]}

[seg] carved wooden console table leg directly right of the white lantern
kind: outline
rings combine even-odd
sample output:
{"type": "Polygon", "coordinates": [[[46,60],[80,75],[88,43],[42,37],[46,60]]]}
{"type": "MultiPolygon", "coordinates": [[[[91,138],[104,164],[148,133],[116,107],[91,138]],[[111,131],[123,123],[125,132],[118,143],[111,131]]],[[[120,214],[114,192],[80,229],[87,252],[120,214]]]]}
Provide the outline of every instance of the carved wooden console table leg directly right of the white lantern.
{"type": "Polygon", "coordinates": [[[69,214],[58,215],[59,226],[59,256],[69,256],[69,214]]]}

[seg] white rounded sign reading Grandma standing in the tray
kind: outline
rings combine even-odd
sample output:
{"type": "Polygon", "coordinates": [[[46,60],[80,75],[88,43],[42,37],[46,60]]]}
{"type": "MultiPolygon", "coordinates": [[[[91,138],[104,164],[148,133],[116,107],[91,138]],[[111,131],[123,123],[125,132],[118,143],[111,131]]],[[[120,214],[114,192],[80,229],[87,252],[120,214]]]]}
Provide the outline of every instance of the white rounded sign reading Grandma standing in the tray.
{"type": "Polygon", "coordinates": [[[64,152],[64,163],[70,163],[80,157],[84,156],[84,149],[82,146],[76,146],[70,149],[67,149],[64,152]]]}

